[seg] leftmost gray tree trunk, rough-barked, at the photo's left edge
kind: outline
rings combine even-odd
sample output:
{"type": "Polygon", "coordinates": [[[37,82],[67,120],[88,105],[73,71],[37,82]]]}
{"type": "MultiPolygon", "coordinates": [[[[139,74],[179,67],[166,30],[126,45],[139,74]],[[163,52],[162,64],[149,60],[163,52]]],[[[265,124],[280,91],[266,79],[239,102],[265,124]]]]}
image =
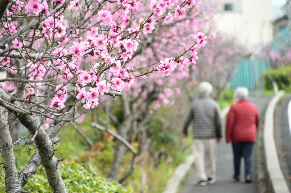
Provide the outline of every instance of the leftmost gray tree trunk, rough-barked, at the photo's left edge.
{"type": "Polygon", "coordinates": [[[20,173],[16,169],[15,165],[13,143],[7,122],[7,112],[4,113],[1,109],[0,109],[0,137],[5,169],[6,192],[8,193],[21,192],[22,184],[20,180],[20,173]]]}

